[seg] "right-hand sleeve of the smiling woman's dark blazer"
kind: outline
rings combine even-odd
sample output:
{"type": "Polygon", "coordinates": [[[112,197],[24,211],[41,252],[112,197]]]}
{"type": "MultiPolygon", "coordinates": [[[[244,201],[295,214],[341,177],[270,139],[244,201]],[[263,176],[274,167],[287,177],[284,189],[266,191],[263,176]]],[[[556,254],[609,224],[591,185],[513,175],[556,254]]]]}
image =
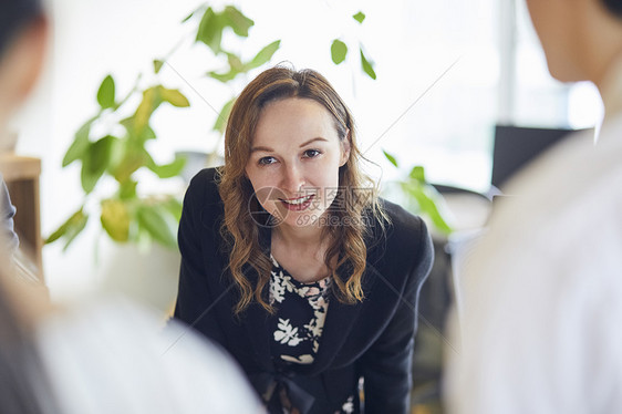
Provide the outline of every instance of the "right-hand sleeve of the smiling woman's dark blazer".
{"type": "Polygon", "coordinates": [[[411,412],[412,358],[418,296],[434,260],[434,249],[427,228],[421,218],[416,218],[416,221],[418,231],[411,232],[411,237],[414,236],[416,242],[410,240],[408,244],[416,250],[411,256],[414,260],[410,262],[408,280],[403,294],[391,322],[361,360],[365,413],[411,412]]]}

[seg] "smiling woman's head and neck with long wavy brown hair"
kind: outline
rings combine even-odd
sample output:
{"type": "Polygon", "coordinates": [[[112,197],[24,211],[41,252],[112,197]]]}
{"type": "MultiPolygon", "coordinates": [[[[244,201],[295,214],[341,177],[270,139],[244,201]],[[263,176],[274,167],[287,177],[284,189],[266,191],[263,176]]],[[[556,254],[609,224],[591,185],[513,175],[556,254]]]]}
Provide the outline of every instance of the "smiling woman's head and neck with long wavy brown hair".
{"type": "Polygon", "coordinates": [[[237,311],[243,310],[252,293],[271,310],[260,294],[269,277],[260,277],[256,289],[247,289],[241,275],[247,263],[259,275],[269,276],[272,268],[260,240],[251,237],[257,225],[274,228],[267,235],[271,253],[283,265],[304,271],[297,275],[299,280],[320,279],[329,269],[349,262],[351,275],[335,278],[335,293],[349,303],[361,300],[366,257],[363,238],[370,230],[362,218],[367,210],[383,229],[387,216],[374,183],[359,167],[363,157],[353,116],[329,82],[310,70],[273,68],[263,72],[237,99],[225,146],[219,194],[226,211],[222,228],[235,241],[229,266],[242,289],[237,311]],[[269,222],[250,219],[249,210],[266,211],[269,222]],[[361,225],[320,226],[318,219],[325,216],[355,218],[361,225]],[[284,226],[277,226],[281,221],[284,226]],[[311,222],[314,225],[305,226],[311,222]],[[349,250],[342,249],[344,244],[349,250]],[[288,257],[302,260],[292,262],[288,257]]]}

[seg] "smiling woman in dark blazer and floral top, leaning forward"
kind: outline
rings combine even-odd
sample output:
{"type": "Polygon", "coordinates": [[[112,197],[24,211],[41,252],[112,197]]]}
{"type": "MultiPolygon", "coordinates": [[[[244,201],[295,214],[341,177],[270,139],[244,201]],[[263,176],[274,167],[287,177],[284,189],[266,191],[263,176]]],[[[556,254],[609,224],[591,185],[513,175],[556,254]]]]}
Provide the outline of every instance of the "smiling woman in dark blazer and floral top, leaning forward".
{"type": "Polygon", "coordinates": [[[353,117],[319,73],[237,99],[225,166],[190,183],[175,317],[222,344],[270,413],[406,413],[425,225],[377,198],[353,117]]]}

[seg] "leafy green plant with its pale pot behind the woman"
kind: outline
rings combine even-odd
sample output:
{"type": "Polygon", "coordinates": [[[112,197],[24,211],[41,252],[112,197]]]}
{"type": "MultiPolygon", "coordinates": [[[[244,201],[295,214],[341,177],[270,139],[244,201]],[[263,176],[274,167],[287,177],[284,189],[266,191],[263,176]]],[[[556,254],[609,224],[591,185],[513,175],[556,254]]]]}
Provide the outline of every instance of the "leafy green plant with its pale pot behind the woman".
{"type": "MultiPolygon", "coordinates": [[[[365,15],[357,12],[352,18],[359,25],[363,23],[365,15]]],[[[215,68],[205,72],[206,77],[230,86],[231,96],[237,94],[239,77],[267,64],[280,48],[280,40],[276,40],[248,60],[241,53],[230,50],[227,46],[229,43],[222,42],[224,37],[232,34],[243,44],[255,24],[230,4],[217,9],[205,3],[190,12],[182,23],[193,24],[195,44],[199,45],[193,52],[198,49],[201,53],[209,53],[210,61],[216,62],[215,68]]],[[[83,234],[87,222],[95,224],[96,220],[100,231],[105,234],[104,239],[113,241],[100,246],[100,238],[96,239],[95,259],[100,256],[106,258],[97,260],[103,265],[97,266],[97,273],[102,273],[97,278],[104,283],[111,278],[123,279],[113,282],[113,289],[118,290],[116,287],[123,283],[122,289],[129,290],[134,297],[155,291],[154,286],[162,284],[159,292],[166,294],[164,299],[157,299],[157,306],[164,309],[176,291],[176,281],[172,276],[178,270],[176,232],[183,188],[174,193],[147,193],[143,187],[143,178],[145,174],[151,174],[155,183],[165,184],[165,180],[179,180],[187,175],[184,170],[187,162],[184,154],[172,154],[168,162],[158,163],[155,154],[149,151],[152,142],[163,138],[152,127],[159,108],[172,105],[184,111],[191,104],[180,90],[162,82],[163,71],[172,69],[169,58],[186,45],[187,42],[182,40],[163,58],[154,59],[148,73],[138,76],[134,86],[125,94],[117,91],[113,75],[105,76],[101,82],[96,93],[99,108],[77,130],[62,162],[63,167],[80,164],[82,200],[45,239],[45,244],[62,242],[63,250],[66,250],[83,234]],[[111,252],[105,251],[111,246],[113,249],[115,246],[123,246],[123,249],[114,250],[114,258],[111,258],[111,252]],[[149,251],[152,253],[145,257],[149,251]],[[160,263],[163,259],[170,263],[160,263]],[[136,266],[133,263],[136,260],[142,263],[136,266]],[[158,281],[158,278],[164,278],[164,281],[158,281]]],[[[374,64],[363,50],[355,37],[343,41],[335,39],[330,48],[330,56],[334,64],[360,64],[365,75],[375,79],[374,64]],[[349,54],[345,42],[359,53],[349,54]]],[[[226,101],[215,116],[212,128],[218,132],[219,138],[209,144],[211,151],[206,154],[206,164],[214,163],[218,157],[217,149],[234,97],[226,101]]],[[[147,301],[153,302],[152,299],[147,298],[147,301]]]]}

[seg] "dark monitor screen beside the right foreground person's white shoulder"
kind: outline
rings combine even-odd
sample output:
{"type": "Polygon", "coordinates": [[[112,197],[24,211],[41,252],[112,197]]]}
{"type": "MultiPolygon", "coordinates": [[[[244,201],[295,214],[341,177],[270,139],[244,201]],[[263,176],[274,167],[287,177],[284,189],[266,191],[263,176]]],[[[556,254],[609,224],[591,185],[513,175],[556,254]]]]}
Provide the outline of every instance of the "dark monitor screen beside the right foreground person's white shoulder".
{"type": "Polygon", "coordinates": [[[493,153],[493,185],[501,187],[527,163],[571,132],[574,131],[497,125],[493,153]]]}

